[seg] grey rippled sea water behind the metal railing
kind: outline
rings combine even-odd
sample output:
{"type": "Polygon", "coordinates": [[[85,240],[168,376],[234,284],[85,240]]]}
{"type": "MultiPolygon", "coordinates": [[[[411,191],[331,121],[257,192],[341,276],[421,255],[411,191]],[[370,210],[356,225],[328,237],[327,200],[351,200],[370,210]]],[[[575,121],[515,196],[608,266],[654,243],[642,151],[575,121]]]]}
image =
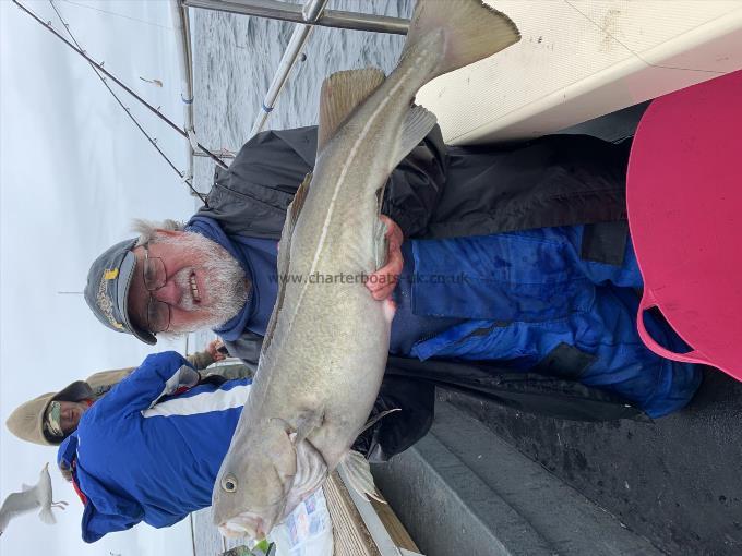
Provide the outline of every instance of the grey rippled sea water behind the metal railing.
{"type": "MultiPolygon", "coordinates": [[[[330,10],[409,17],[411,0],[331,0],[330,10]]],[[[211,148],[238,150],[250,138],[263,98],[291,37],[294,24],[248,15],[191,10],[194,68],[194,123],[211,148]]],[[[315,27],[264,129],[315,125],[322,81],[339,70],[375,65],[388,73],[404,36],[315,27]]],[[[195,185],[208,191],[210,159],[198,157],[195,185]]]]}

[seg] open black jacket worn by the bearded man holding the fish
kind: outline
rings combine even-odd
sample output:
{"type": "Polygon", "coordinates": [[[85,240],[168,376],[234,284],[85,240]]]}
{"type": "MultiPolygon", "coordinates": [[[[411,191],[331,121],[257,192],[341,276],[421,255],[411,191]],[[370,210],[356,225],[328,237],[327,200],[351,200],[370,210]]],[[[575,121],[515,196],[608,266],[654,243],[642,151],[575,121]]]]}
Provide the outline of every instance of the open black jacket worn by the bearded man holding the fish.
{"type": "MultiPolygon", "coordinates": [[[[315,154],[316,128],[255,135],[229,169],[217,168],[199,215],[214,218],[230,235],[278,240],[286,208],[312,170],[315,154]]],[[[610,262],[623,254],[625,241],[627,155],[627,144],[585,135],[552,135],[510,147],[446,147],[436,126],[390,177],[383,211],[399,225],[405,238],[593,225],[585,233],[585,243],[589,239],[589,245],[583,245],[585,256],[610,262]]],[[[256,364],[261,343],[261,336],[246,331],[227,347],[232,355],[256,364]]],[[[544,380],[491,363],[390,358],[386,376],[376,409],[396,404],[403,411],[384,418],[366,435],[367,440],[375,437],[367,448],[382,459],[428,431],[434,385],[566,419],[605,420],[637,413],[623,400],[569,376],[544,380]]]]}

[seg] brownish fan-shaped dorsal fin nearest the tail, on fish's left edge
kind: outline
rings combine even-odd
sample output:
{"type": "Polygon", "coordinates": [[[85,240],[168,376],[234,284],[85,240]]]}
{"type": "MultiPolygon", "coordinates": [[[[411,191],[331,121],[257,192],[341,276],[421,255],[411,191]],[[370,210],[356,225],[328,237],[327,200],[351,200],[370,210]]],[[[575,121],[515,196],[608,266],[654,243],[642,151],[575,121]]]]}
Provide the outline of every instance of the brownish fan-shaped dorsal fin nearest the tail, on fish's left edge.
{"type": "Polygon", "coordinates": [[[322,83],[316,152],[321,153],[348,116],[384,82],[378,68],[333,73],[322,83]]]}

